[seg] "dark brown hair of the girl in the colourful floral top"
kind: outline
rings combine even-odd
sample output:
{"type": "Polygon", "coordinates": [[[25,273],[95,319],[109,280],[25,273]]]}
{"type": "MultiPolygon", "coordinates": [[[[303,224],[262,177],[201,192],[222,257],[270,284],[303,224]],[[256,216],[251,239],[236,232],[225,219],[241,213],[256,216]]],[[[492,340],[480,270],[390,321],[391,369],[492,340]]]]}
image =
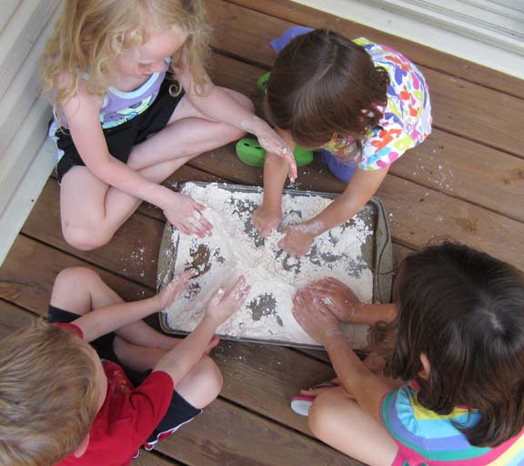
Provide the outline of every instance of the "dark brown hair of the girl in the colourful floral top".
{"type": "Polygon", "coordinates": [[[298,35],[280,52],[267,81],[267,118],[303,147],[322,147],[336,133],[358,149],[387,104],[388,72],[362,46],[332,31],[298,35]]]}

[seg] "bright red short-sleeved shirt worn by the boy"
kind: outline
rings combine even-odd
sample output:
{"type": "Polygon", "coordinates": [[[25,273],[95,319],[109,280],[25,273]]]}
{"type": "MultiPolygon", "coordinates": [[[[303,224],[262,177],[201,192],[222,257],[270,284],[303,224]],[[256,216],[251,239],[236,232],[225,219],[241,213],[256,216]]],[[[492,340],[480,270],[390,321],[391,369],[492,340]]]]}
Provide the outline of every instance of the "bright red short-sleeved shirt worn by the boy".
{"type": "MultiPolygon", "coordinates": [[[[84,338],[75,324],[57,325],[72,329],[84,338]]],[[[96,413],[87,451],[80,458],[69,455],[56,463],[59,466],[130,464],[166,414],[174,390],[173,380],[166,372],[155,370],[135,389],[116,363],[106,361],[104,370],[106,400],[96,413]]]]}

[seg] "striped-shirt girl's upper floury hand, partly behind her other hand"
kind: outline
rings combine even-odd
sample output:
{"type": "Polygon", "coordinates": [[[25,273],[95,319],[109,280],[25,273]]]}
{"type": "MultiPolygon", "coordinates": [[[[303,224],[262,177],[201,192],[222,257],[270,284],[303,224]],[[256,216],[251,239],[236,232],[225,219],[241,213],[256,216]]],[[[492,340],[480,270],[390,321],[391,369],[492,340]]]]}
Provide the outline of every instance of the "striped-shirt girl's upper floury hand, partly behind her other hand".
{"type": "Polygon", "coordinates": [[[324,299],[328,309],[342,322],[350,322],[361,306],[357,295],[334,277],[313,281],[306,289],[313,296],[324,299]]]}

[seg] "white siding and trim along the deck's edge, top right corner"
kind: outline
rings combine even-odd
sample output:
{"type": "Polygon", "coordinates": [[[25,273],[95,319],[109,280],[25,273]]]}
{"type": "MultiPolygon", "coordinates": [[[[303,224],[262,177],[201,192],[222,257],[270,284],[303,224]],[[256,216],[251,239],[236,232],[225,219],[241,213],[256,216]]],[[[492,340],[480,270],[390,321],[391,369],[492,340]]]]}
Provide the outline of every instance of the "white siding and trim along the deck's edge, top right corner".
{"type": "Polygon", "coordinates": [[[524,78],[524,8],[519,0],[294,1],[524,78]]]}

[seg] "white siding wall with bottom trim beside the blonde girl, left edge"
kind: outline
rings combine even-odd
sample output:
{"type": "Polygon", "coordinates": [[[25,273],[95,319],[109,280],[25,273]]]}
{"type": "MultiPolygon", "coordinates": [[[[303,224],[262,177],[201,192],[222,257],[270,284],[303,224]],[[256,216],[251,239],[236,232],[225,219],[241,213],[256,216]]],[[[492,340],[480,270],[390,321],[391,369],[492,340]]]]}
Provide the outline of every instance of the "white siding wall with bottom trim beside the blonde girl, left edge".
{"type": "Polygon", "coordinates": [[[2,0],[0,8],[0,264],[54,165],[51,108],[38,59],[60,0],[2,0]]]}

